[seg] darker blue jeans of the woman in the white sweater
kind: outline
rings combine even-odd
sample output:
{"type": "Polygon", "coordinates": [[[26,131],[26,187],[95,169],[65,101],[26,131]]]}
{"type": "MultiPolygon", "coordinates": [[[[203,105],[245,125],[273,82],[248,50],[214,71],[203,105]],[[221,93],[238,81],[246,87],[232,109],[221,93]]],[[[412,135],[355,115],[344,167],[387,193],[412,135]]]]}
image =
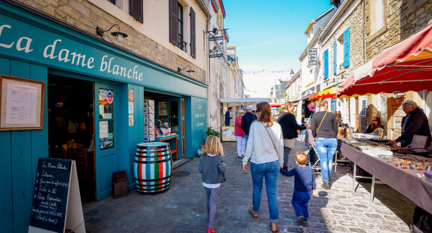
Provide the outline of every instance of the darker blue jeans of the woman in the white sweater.
{"type": "Polygon", "coordinates": [[[278,160],[266,163],[251,162],[252,181],[254,191],[252,197],[254,213],[258,213],[261,204],[261,191],[263,190],[263,178],[266,177],[266,191],[268,199],[268,209],[270,211],[270,222],[278,222],[278,198],[276,197],[276,187],[278,186],[279,162],[278,160]]]}

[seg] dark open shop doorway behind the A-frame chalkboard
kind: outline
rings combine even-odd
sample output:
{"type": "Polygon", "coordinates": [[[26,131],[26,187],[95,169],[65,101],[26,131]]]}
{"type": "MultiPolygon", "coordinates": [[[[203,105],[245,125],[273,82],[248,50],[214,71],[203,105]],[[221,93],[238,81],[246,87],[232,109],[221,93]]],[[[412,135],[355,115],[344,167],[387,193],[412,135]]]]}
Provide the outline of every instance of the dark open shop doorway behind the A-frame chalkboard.
{"type": "Polygon", "coordinates": [[[75,160],[81,200],[95,196],[93,82],[48,76],[49,157],[75,160]]]}

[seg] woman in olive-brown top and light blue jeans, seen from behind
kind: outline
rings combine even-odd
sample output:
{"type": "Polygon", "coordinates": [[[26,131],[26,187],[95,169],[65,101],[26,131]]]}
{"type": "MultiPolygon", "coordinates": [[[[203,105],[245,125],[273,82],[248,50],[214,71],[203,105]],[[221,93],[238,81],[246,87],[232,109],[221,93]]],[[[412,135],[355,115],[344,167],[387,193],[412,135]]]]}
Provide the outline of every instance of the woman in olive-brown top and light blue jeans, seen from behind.
{"type": "Polygon", "coordinates": [[[319,157],[322,172],[322,187],[330,189],[331,167],[338,141],[338,123],[334,114],[328,114],[329,104],[323,98],[317,101],[320,112],[315,113],[311,119],[312,135],[315,137],[315,147],[319,157]]]}

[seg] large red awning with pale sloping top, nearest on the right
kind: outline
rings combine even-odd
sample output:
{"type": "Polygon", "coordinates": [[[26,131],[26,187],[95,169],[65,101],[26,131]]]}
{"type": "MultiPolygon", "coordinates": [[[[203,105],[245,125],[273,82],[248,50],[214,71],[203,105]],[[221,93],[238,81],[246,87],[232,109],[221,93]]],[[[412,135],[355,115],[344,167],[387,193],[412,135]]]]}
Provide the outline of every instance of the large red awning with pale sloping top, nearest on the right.
{"type": "Polygon", "coordinates": [[[338,97],[432,90],[432,25],[380,52],[337,88],[338,97]]]}

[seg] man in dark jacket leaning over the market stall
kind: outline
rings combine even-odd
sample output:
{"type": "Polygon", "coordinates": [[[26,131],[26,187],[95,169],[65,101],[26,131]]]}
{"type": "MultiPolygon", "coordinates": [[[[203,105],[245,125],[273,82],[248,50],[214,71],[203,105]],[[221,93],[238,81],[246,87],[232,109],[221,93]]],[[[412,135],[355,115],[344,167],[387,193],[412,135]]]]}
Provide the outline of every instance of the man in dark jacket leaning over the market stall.
{"type": "Polygon", "coordinates": [[[402,147],[407,147],[411,144],[414,135],[427,136],[428,141],[426,147],[431,146],[431,129],[429,129],[428,117],[416,104],[411,100],[406,100],[402,103],[402,109],[407,114],[402,118],[402,133],[399,138],[390,141],[390,145],[401,143],[402,147]]]}

